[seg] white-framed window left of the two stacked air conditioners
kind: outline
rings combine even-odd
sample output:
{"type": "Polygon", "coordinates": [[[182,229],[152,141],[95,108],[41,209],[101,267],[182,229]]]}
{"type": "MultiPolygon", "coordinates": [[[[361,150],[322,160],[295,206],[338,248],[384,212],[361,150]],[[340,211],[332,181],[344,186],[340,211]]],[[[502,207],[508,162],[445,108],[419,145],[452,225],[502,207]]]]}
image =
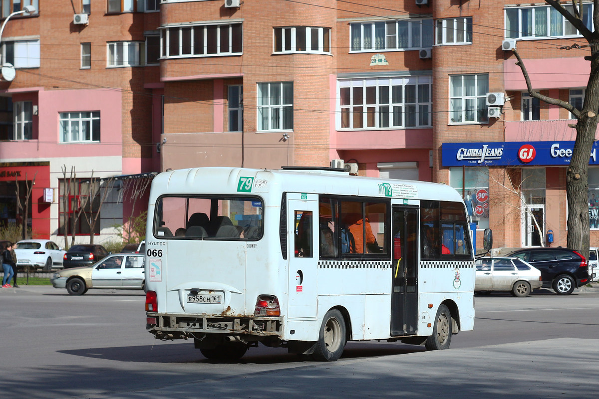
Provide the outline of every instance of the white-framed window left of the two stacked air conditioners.
{"type": "Polygon", "coordinates": [[[486,93],[489,75],[453,75],[449,77],[450,123],[487,123],[486,93]]]}

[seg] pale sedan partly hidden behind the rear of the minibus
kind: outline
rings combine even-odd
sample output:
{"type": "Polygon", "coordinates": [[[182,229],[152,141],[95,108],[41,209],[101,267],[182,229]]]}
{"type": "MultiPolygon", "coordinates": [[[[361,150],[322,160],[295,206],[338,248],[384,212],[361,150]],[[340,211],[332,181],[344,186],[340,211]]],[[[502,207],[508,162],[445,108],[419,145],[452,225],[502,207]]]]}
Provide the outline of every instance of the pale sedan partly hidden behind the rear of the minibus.
{"type": "Polygon", "coordinates": [[[145,290],[143,254],[111,254],[92,266],[71,267],[54,273],[54,288],[83,295],[89,288],[145,290]]]}

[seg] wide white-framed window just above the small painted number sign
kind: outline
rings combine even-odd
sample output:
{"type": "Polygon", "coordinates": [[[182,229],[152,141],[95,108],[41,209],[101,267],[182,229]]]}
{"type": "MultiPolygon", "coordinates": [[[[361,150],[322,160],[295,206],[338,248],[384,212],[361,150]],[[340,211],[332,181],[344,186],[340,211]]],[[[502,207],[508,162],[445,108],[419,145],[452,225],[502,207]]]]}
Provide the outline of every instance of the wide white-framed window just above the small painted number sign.
{"type": "Polygon", "coordinates": [[[350,51],[410,50],[432,47],[432,19],[350,24],[350,51]]]}

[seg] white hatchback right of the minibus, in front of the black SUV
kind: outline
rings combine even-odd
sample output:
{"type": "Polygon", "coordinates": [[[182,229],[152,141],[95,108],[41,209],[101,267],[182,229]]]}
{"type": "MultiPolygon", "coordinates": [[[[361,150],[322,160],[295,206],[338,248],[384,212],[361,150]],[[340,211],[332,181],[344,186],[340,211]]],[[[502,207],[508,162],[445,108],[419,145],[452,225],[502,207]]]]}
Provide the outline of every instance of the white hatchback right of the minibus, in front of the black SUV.
{"type": "Polygon", "coordinates": [[[484,257],[476,260],[474,291],[510,291],[513,296],[527,297],[543,285],[541,272],[516,257],[484,257]]]}

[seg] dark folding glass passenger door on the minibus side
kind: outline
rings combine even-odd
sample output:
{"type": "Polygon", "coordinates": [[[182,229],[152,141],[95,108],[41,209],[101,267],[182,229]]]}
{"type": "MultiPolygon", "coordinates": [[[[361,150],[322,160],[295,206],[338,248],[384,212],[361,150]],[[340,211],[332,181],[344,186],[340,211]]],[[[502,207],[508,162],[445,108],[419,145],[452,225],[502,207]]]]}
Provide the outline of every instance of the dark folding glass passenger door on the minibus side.
{"type": "Polygon", "coordinates": [[[418,321],[418,210],[393,206],[391,336],[416,334],[418,321]]]}

